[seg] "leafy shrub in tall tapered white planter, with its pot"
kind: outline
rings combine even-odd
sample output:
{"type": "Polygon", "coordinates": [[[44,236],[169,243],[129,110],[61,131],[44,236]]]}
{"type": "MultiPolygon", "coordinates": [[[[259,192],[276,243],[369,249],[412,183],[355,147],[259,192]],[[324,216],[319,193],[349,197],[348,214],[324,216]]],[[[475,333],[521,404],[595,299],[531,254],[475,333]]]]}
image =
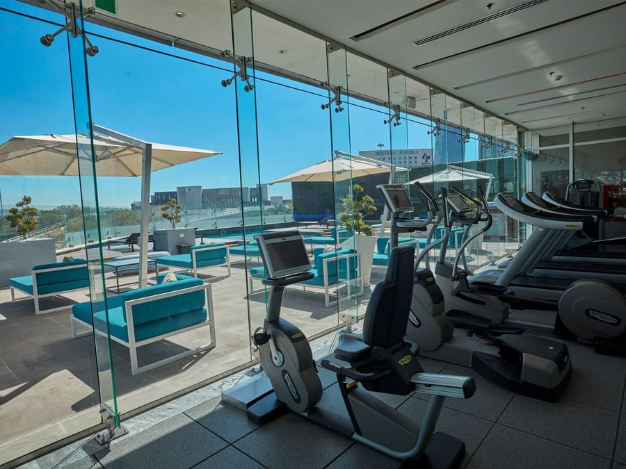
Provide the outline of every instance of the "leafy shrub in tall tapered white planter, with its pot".
{"type": "Polygon", "coordinates": [[[376,205],[370,195],[363,194],[363,187],[360,184],[353,184],[351,193],[342,199],[342,206],[344,211],[339,213],[339,221],[344,224],[347,231],[354,231],[354,235],[342,242],[342,246],[352,247],[359,253],[361,277],[363,284],[368,286],[376,238],[369,224],[363,221],[363,217],[374,215],[376,205]]]}

